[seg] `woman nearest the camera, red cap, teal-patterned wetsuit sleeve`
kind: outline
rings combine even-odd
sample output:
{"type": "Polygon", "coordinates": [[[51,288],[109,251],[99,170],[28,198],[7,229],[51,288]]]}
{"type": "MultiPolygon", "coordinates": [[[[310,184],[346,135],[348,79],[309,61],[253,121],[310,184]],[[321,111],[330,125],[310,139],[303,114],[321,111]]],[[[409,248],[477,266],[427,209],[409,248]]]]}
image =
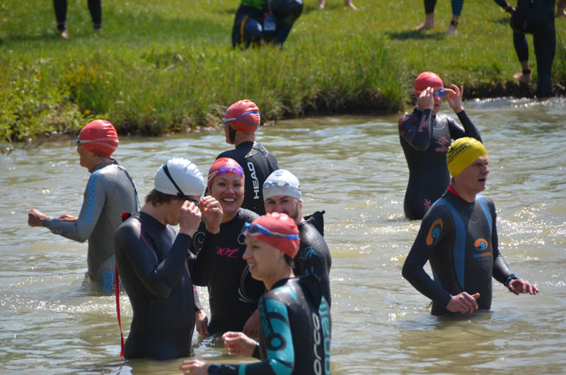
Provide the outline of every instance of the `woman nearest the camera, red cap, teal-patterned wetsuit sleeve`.
{"type": "Polygon", "coordinates": [[[318,279],[294,277],[299,229],[287,214],[255,219],[246,231],[243,258],[267,292],[260,298],[260,340],[224,333],[229,354],[255,357],[250,364],[208,364],[198,359],[180,366],[184,374],[330,374],[330,308],[318,279]]]}

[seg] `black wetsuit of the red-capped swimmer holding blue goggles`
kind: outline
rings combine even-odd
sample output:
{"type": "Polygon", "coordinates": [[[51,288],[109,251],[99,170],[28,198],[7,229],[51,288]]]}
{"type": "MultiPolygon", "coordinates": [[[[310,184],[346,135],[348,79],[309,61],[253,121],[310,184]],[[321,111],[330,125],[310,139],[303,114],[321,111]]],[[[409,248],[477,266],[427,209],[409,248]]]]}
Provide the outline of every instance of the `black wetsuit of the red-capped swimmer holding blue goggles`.
{"type": "Polygon", "coordinates": [[[451,139],[472,137],[482,141],[479,130],[466,111],[457,113],[463,127],[449,115],[418,108],[400,118],[398,130],[401,146],[409,167],[409,182],[405,192],[405,216],[422,219],[448,184],[450,173],[446,167],[446,151],[451,139]]]}

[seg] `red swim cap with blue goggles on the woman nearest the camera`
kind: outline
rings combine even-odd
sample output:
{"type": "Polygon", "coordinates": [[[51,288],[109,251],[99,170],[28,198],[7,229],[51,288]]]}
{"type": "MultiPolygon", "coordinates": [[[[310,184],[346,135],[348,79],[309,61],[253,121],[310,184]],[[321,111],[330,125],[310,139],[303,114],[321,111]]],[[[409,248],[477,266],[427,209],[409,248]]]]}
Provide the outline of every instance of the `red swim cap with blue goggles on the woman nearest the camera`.
{"type": "Polygon", "coordinates": [[[253,236],[267,245],[295,258],[299,251],[299,228],[287,214],[272,212],[249,224],[246,236],[253,236]],[[270,234],[267,234],[267,231],[270,234]]]}

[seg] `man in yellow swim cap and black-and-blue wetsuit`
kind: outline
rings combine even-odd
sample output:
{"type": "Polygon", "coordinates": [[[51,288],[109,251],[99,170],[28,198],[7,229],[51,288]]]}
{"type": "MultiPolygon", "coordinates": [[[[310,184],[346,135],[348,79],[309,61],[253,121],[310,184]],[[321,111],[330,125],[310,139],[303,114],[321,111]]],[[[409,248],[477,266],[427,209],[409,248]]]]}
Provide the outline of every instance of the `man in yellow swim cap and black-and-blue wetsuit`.
{"type": "Polygon", "coordinates": [[[491,308],[492,281],[514,294],[538,289],[514,275],[499,253],[495,205],[485,190],[489,158],[481,142],[463,137],[446,154],[451,184],[424,215],[403,277],[432,299],[432,314],[472,313],[491,308]],[[424,271],[429,261],[434,280],[424,271]]]}

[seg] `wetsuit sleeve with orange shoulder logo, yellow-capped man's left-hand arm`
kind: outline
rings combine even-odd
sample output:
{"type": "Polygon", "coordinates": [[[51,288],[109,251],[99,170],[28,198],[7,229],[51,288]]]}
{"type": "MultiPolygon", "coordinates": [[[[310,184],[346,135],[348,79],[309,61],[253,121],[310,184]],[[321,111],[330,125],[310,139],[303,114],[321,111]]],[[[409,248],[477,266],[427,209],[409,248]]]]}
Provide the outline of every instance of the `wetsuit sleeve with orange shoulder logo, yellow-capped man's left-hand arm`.
{"type": "Polygon", "coordinates": [[[449,303],[451,295],[441,284],[434,282],[423,267],[432,254],[439,251],[442,240],[451,231],[454,231],[454,224],[449,212],[440,205],[432,207],[422,219],[415,243],[403,264],[403,277],[419,292],[442,306],[449,303]]]}

